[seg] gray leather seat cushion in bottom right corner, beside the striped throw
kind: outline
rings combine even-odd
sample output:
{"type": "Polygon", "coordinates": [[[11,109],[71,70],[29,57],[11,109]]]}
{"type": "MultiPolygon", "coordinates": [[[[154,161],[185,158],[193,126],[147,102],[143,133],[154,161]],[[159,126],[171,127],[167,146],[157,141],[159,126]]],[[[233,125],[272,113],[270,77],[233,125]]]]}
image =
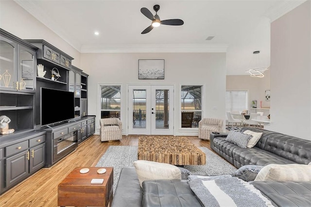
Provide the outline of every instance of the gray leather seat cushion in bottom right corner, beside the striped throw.
{"type": "Polygon", "coordinates": [[[278,207],[311,207],[311,182],[262,182],[252,185],[278,207]]]}

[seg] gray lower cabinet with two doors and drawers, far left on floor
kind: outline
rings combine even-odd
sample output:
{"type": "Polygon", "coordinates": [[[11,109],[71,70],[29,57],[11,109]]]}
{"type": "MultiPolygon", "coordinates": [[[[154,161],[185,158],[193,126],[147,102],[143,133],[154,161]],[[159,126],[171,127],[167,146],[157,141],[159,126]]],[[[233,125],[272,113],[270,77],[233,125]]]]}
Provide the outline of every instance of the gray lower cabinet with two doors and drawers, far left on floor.
{"type": "Polygon", "coordinates": [[[1,193],[44,167],[45,136],[45,132],[31,132],[22,138],[1,139],[1,193]]]}

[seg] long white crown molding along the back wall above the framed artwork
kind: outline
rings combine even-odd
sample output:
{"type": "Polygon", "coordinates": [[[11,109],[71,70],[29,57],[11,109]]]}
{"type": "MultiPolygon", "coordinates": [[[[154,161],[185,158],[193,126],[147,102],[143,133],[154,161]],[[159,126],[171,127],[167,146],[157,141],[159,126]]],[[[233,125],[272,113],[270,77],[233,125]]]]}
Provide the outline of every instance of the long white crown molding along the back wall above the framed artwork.
{"type": "Polygon", "coordinates": [[[210,44],[85,45],[81,52],[226,52],[227,47],[210,44]]]}

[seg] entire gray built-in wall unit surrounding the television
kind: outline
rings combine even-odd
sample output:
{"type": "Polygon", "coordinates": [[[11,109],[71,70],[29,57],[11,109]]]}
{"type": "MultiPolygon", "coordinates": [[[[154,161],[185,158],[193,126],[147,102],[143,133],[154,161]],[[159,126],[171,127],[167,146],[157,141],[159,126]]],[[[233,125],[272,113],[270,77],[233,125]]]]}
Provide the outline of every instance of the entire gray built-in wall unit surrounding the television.
{"type": "Polygon", "coordinates": [[[0,117],[8,117],[14,129],[0,135],[0,194],[52,166],[95,133],[95,116],[87,116],[88,75],[71,66],[72,60],[44,40],[25,41],[0,29],[0,117]],[[46,71],[43,77],[37,76],[38,64],[46,71]],[[73,91],[75,119],[42,127],[41,87],[73,91]]]}

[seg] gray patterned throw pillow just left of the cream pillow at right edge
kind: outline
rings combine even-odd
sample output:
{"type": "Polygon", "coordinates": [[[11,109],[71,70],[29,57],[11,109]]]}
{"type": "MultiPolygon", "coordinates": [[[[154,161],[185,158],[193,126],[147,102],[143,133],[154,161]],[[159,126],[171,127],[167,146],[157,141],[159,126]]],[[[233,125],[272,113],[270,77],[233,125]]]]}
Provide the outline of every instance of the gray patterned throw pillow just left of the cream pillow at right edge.
{"type": "Polygon", "coordinates": [[[255,180],[257,174],[264,166],[259,165],[244,165],[236,172],[231,173],[232,177],[238,177],[246,182],[255,180]]]}

